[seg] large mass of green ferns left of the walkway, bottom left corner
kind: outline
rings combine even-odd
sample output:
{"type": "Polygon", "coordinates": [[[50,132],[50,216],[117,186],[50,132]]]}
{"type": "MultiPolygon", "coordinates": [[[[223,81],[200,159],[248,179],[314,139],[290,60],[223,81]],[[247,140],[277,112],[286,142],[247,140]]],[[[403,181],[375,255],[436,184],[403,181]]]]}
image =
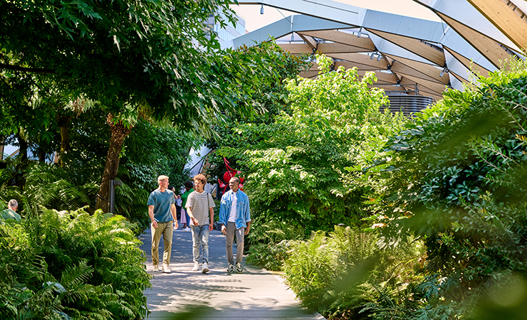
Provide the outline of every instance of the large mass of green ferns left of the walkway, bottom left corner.
{"type": "Polygon", "coordinates": [[[1,223],[2,319],[144,318],[150,275],[132,228],[83,209],[1,223]]]}

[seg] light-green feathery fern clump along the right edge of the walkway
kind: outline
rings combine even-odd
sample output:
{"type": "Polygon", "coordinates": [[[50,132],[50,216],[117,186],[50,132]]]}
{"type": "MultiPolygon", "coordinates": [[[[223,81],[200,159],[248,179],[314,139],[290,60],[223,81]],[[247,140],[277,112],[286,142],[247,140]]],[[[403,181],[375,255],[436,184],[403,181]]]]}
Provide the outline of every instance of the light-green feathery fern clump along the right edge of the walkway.
{"type": "MultiPolygon", "coordinates": [[[[422,279],[421,241],[380,250],[376,233],[335,227],[333,233],[313,233],[294,242],[284,266],[286,280],[302,303],[328,319],[367,319],[375,316],[371,302],[411,292],[422,279]]],[[[408,295],[412,295],[409,293],[408,295]]],[[[405,299],[402,299],[405,301],[405,299]]]]}

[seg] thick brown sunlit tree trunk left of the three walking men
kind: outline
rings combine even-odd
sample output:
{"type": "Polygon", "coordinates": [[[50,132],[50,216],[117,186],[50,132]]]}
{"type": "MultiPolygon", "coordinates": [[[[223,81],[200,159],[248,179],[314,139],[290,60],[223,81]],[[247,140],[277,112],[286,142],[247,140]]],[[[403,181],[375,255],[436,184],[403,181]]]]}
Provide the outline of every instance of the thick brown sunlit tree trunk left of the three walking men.
{"type": "Polygon", "coordinates": [[[131,128],[126,127],[121,121],[113,123],[113,114],[108,114],[106,123],[110,126],[110,147],[108,148],[108,156],[106,157],[106,165],[104,168],[103,181],[100,183],[99,192],[97,195],[97,203],[95,208],[108,212],[109,204],[108,197],[110,194],[110,180],[115,179],[117,170],[119,168],[119,154],[122,151],[122,143],[130,134],[131,128]]]}

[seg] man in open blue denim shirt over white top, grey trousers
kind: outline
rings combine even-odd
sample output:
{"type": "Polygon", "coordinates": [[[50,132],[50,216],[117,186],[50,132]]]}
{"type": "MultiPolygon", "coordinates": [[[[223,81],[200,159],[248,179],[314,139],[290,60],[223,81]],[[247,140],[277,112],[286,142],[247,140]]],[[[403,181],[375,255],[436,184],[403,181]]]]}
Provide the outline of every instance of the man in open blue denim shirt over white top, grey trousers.
{"type": "Polygon", "coordinates": [[[232,242],[236,234],[236,272],[244,272],[241,260],[244,259],[244,235],[249,234],[251,227],[251,213],[249,211],[249,198],[238,188],[240,179],[233,177],[229,181],[229,188],[221,197],[219,206],[219,223],[221,233],[226,234],[225,248],[227,251],[227,272],[234,272],[234,257],[232,255],[232,242]]]}

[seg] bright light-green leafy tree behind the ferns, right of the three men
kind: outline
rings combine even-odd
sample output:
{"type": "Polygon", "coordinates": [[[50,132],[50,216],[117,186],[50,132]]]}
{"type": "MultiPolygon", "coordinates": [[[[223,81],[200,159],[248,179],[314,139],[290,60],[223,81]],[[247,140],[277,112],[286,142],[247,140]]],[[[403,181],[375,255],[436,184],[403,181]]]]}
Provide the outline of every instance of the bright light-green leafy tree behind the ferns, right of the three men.
{"type": "MultiPolygon", "coordinates": [[[[328,58],[318,57],[324,71],[328,58]]],[[[397,132],[405,119],[382,114],[382,90],[369,89],[369,73],[358,81],[356,69],[323,73],[316,80],[289,80],[291,114],[270,124],[240,124],[241,140],[257,144],[224,146],[218,153],[239,157],[249,170],[246,192],[256,221],[277,219],[311,230],[357,225],[367,217],[362,205],[369,186],[353,183],[354,166],[369,162],[372,146],[397,132]]]]}

